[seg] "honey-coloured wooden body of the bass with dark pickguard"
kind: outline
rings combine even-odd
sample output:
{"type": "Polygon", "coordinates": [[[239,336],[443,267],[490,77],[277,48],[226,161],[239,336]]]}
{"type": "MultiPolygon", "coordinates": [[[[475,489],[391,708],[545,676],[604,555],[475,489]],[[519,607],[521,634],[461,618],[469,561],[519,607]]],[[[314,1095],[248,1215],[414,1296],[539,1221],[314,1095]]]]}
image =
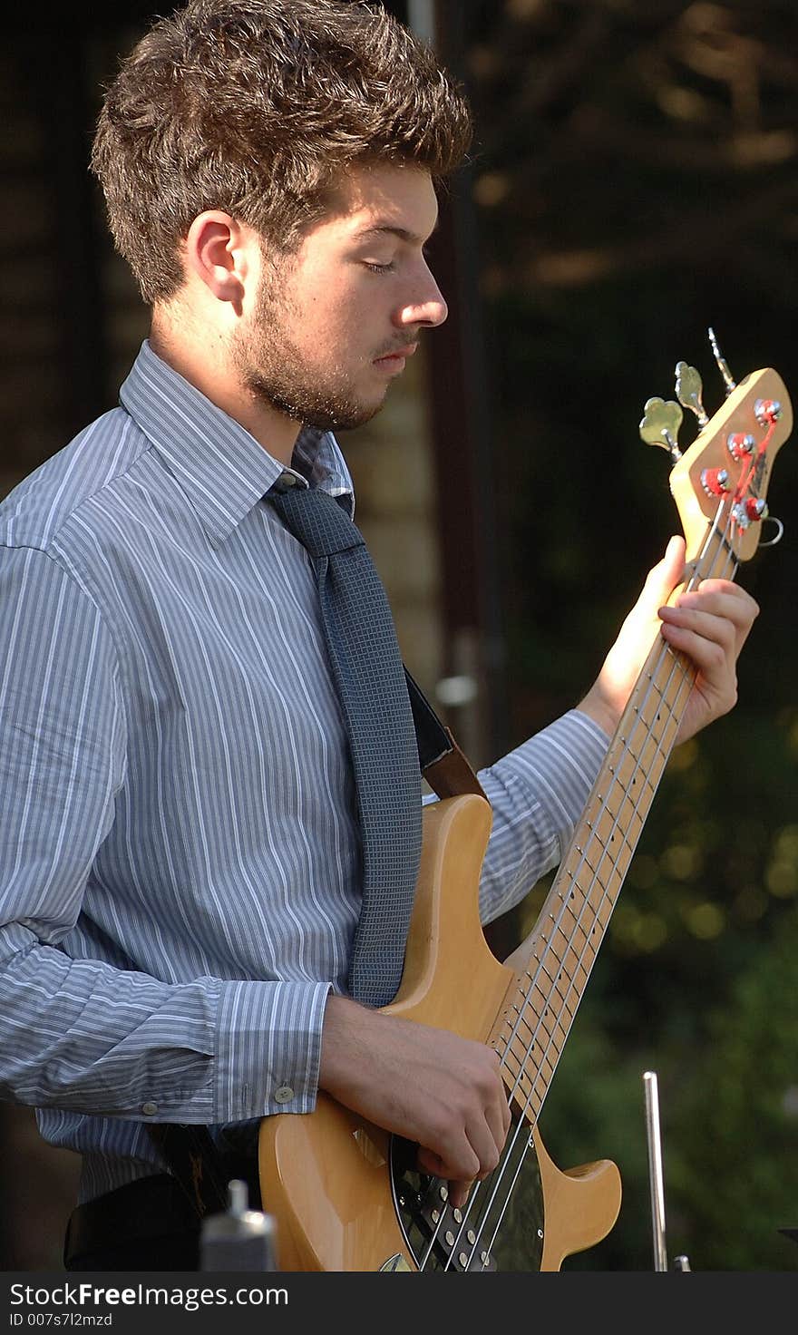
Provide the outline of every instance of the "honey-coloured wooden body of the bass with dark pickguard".
{"type": "MultiPolygon", "coordinates": [[[[404,973],[384,1008],[486,1043],[518,988],[516,972],[494,957],[479,922],[490,824],[488,804],[474,794],[424,808],[404,973]]],[[[594,1246],[615,1223],[619,1173],[609,1160],[560,1172],[531,1112],[512,1111],[512,1196],[490,1207],[488,1192],[472,1188],[460,1219],[443,1199],[446,1183],[415,1169],[414,1147],[334,1099],[320,1093],[308,1115],[264,1117],[260,1184],[276,1223],[279,1268],[559,1270],[564,1256],[594,1246]],[[467,1242],[470,1228],[480,1239],[476,1250],[467,1242]]]]}

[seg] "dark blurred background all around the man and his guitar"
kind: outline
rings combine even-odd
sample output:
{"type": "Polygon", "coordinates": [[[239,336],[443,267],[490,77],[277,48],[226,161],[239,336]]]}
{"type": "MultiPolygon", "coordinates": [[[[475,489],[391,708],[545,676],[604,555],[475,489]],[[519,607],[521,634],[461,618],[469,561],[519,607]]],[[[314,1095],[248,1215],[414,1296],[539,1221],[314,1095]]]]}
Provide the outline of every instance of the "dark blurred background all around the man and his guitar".
{"type": "MultiPolygon", "coordinates": [[[[408,668],[479,766],[578,701],[681,531],[667,454],[638,435],[675,363],[711,415],[711,326],[735,379],[773,366],[798,399],[798,8],[388,8],[463,80],[478,134],[432,243],[450,320],[342,445],[408,668]]],[[[147,335],[87,160],[153,12],[5,19],[0,494],[116,402],[147,335]]],[[[762,609],[739,704],[671,757],[542,1111],[559,1167],[609,1157],[623,1181],[614,1230],[564,1270],[654,1268],[645,1071],[670,1259],[798,1270],[797,479],[789,441],[783,539],[739,573],[762,609]]],[[[496,953],[547,885],[491,926],[496,953]]],[[[0,1105],[0,1267],[60,1268],[73,1156],[0,1105]]]]}

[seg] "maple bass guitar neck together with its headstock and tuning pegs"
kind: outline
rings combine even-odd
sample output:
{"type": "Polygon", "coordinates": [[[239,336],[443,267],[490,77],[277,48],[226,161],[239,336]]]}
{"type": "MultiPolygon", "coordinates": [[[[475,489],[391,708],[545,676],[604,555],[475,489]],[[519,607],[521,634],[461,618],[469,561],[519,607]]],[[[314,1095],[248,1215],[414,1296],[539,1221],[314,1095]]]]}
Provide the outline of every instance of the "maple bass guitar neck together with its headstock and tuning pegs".
{"type": "MultiPolygon", "coordinates": [[[[677,391],[681,387],[686,394],[693,387],[694,396],[699,396],[698,372],[682,362],[677,370],[677,391]]],[[[770,367],[753,371],[727,390],[725,403],[702,425],[685,454],[675,442],[682,419],[679,403],[649,399],[641,422],[643,441],[662,445],[674,459],[670,489],[691,554],[690,585],[709,575],[734,578],[738,562],[757,550],[758,521],[767,514],[770,467],[793,427],[786,387],[770,367]]],[[[782,526],[777,527],[771,542],[781,537],[782,526]]],[[[538,921],[506,961],[514,981],[490,1041],[502,1057],[511,1101],[532,1124],[587,987],[694,680],[690,659],[658,634],[538,921]]]]}

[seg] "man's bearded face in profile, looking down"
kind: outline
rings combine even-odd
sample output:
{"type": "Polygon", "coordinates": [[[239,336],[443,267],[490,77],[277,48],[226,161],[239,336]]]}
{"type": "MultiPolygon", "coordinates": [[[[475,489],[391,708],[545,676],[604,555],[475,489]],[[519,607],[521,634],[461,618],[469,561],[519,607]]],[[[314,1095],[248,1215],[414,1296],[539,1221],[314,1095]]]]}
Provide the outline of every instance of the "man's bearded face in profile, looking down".
{"type": "Polygon", "coordinates": [[[322,430],[374,417],[419,330],[447,315],[423,252],[436,219],[427,172],[358,168],[340,210],[295,255],[264,250],[254,315],[235,344],[247,390],[322,430]]]}

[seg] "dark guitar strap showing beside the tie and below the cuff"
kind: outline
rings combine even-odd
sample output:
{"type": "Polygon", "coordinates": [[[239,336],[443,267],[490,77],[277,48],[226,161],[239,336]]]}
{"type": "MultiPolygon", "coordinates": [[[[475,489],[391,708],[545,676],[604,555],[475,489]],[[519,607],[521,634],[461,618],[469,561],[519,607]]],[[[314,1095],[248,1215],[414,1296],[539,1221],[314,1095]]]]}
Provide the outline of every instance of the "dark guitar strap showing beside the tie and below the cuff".
{"type": "MultiPolygon", "coordinates": [[[[419,685],[404,669],[422,776],[440,797],[476,793],[482,784],[452,733],[440,721],[419,685]]],[[[487,800],[487,798],[486,798],[487,800]]],[[[199,1219],[227,1210],[228,1167],[207,1127],[183,1123],[148,1123],[159,1153],[172,1169],[199,1219]]]]}

